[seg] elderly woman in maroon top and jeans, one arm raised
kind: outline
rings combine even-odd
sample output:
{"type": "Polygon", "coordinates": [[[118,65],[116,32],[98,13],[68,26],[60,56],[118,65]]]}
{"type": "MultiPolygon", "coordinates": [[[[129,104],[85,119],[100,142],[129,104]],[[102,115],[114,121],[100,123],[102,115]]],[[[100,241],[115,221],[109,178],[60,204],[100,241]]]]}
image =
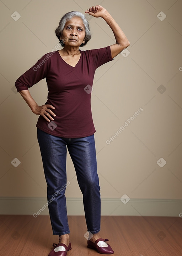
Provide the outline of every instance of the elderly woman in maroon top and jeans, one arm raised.
{"type": "Polygon", "coordinates": [[[99,235],[101,219],[100,186],[91,113],[91,91],[95,70],[112,61],[130,45],[116,21],[101,5],[91,6],[85,13],[102,17],[111,27],[116,43],[107,47],[82,51],[91,39],[89,23],[79,11],[66,13],[55,34],[63,49],[45,54],[15,82],[17,91],[32,112],[39,115],[37,136],[40,146],[47,200],[53,235],[58,244],[49,256],[65,256],[71,250],[66,212],[66,146],[73,161],[77,181],[83,194],[89,238],[87,247],[101,254],[113,250],[99,235]],[[28,90],[41,79],[48,85],[47,102],[39,106],[28,90]],[[51,200],[52,199],[52,200],[51,200]]]}

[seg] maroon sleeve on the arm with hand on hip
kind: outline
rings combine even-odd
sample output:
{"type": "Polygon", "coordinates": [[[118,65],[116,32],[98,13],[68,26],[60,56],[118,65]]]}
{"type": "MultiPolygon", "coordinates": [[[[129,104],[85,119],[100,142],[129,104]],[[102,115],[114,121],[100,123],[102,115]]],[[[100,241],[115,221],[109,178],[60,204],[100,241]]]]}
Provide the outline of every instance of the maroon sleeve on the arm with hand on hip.
{"type": "Polygon", "coordinates": [[[15,82],[17,91],[28,90],[28,88],[44,79],[47,75],[48,60],[48,54],[43,55],[36,64],[22,74],[15,82]]]}

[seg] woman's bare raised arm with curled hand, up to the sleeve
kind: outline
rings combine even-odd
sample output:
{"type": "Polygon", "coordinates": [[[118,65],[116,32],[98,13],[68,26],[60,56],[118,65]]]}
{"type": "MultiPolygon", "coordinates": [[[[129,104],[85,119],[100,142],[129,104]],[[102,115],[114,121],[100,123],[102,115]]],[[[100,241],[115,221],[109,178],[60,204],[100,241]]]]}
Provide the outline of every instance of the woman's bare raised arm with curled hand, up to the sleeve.
{"type": "Polygon", "coordinates": [[[88,13],[93,17],[102,17],[107,22],[109,27],[111,27],[116,39],[116,44],[111,45],[112,58],[116,57],[123,49],[130,45],[130,42],[128,41],[122,29],[109,14],[109,12],[101,5],[91,6],[87,11],[85,11],[85,13],[88,13]]]}

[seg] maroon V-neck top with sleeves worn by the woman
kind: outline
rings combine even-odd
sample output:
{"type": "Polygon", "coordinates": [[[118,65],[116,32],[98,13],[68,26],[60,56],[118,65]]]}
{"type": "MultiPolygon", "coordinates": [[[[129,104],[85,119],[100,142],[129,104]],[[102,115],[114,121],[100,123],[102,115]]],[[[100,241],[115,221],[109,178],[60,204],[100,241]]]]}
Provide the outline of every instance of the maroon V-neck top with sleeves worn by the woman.
{"type": "Polygon", "coordinates": [[[37,127],[48,134],[65,138],[79,138],[94,134],[91,112],[91,91],[97,67],[113,60],[110,46],[80,50],[76,66],[66,63],[58,51],[49,52],[15,82],[17,91],[28,90],[46,79],[48,97],[45,104],[55,107],[54,121],[39,116],[37,127]]]}

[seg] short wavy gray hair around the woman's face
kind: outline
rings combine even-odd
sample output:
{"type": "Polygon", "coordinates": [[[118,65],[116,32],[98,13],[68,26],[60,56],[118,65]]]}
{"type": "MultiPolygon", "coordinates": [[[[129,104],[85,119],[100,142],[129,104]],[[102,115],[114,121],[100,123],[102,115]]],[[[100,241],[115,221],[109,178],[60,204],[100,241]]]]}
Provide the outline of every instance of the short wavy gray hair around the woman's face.
{"type": "Polygon", "coordinates": [[[70,12],[67,12],[65,15],[63,15],[63,17],[59,21],[59,26],[55,30],[55,35],[58,37],[61,46],[64,46],[63,40],[60,40],[61,33],[64,29],[66,22],[71,20],[73,17],[80,17],[82,19],[84,27],[85,27],[85,38],[84,38],[85,44],[82,43],[80,46],[86,45],[87,42],[91,39],[89,21],[87,21],[85,15],[79,11],[70,11],[70,12]]]}

